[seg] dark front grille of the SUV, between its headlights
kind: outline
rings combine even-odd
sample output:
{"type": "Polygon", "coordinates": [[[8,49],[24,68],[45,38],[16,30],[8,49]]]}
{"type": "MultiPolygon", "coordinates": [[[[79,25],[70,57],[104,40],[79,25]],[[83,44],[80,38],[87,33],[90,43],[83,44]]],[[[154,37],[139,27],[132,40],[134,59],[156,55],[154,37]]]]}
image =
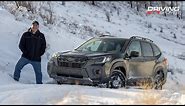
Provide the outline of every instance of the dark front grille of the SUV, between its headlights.
{"type": "Polygon", "coordinates": [[[61,67],[71,67],[71,68],[82,68],[86,61],[80,58],[63,57],[58,59],[58,65],[61,67]]]}

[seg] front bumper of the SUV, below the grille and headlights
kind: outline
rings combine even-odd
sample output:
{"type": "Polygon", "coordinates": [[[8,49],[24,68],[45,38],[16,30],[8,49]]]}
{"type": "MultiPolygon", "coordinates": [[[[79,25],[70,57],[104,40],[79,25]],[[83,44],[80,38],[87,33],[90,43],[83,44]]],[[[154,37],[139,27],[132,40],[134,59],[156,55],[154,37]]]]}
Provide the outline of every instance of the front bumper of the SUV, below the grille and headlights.
{"type": "Polygon", "coordinates": [[[70,68],[48,63],[47,70],[51,78],[66,84],[96,85],[105,83],[108,80],[104,64],[85,65],[83,68],[70,68]]]}

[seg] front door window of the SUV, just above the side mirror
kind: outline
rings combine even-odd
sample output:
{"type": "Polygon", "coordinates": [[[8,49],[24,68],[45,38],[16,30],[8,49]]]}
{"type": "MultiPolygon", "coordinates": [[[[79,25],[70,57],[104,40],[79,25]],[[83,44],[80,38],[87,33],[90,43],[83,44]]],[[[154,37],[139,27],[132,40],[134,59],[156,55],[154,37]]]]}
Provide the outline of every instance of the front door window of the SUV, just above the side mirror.
{"type": "Polygon", "coordinates": [[[141,56],[141,45],[140,41],[132,41],[129,48],[128,48],[128,53],[130,54],[131,51],[137,51],[139,52],[139,56],[141,56]]]}

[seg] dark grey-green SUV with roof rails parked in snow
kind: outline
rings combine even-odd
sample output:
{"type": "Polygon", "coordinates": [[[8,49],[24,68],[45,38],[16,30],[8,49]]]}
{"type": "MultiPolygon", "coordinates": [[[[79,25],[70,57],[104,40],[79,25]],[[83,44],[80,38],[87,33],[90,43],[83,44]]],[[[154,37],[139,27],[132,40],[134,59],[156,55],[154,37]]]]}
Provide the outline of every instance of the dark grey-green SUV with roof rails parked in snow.
{"type": "Polygon", "coordinates": [[[58,84],[162,89],[167,78],[167,66],[167,59],[150,39],[102,35],[73,51],[54,53],[47,71],[58,84]]]}

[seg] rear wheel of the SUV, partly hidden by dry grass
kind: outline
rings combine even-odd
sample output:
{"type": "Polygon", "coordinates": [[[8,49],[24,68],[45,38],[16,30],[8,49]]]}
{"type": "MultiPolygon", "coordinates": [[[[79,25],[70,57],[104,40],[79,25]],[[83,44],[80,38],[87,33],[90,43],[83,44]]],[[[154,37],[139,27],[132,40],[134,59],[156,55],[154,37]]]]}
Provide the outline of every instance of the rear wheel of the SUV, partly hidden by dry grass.
{"type": "Polygon", "coordinates": [[[160,71],[154,77],[154,86],[153,86],[153,88],[156,89],[156,90],[162,90],[163,80],[164,80],[164,74],[162,73],[162,71],[160,71]]]}

